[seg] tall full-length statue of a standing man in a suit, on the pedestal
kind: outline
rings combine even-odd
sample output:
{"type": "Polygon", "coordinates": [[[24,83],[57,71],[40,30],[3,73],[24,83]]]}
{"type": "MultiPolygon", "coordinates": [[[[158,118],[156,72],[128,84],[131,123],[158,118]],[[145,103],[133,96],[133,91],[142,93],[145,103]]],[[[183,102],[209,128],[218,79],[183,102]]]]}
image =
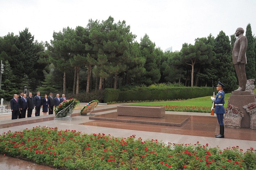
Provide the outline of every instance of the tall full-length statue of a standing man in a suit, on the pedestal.
{"type": "Polygon", "coordinates": [[[247,82],[245,74],[247,38],[244,36],[244,29],[242,28],[237,28],[235,35],[237,40],[233,45],[232,58],[239,84],[238,89],[235,91],[245,91],[247,82]]]}

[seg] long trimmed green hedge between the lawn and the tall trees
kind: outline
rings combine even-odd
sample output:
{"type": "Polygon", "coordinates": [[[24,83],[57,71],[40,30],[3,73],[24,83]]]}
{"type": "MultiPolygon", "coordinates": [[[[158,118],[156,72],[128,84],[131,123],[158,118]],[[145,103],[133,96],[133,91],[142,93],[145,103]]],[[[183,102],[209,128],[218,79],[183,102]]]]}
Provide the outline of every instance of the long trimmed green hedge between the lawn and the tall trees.
{"type": "Polygon", "coordinates": [[[212,87],[136,87],[131,90],[106,88],[104,102],[191,99],[212,95],[212,87]]]}

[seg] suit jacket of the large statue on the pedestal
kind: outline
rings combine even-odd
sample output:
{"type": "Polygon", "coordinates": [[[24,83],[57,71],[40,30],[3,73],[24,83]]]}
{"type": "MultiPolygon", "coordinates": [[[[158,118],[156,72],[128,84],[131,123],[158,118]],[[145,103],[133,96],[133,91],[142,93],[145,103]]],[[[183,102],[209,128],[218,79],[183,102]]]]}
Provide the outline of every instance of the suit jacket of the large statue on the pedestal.
{"type": "Polygon", "coordinates": [[[246,48],[247,48],[247,38],[243,34],[238,35],[232,50],[233,64],[238,64],[237,60],[241,60],[240,64],[247,64],[246,54],[245,54],[246,48]]]}

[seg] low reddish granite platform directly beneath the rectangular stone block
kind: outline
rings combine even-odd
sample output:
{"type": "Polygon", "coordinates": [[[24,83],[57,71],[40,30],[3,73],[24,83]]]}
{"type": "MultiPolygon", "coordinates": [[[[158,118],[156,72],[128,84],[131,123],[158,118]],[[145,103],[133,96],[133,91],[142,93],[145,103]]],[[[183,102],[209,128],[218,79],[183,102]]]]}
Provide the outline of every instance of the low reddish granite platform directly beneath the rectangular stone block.
{"type": "Polygon", "coordinates": [[[188,115],[172,115],[166,114],[163,118],[150,117],[135,117],[135,116],[119,116],[117,112],[90,116],[89,120],[103,120],[115,122],[127,122],[150,125],[165,125],[165,126],[182,126],[189,120],[188,115]]]}

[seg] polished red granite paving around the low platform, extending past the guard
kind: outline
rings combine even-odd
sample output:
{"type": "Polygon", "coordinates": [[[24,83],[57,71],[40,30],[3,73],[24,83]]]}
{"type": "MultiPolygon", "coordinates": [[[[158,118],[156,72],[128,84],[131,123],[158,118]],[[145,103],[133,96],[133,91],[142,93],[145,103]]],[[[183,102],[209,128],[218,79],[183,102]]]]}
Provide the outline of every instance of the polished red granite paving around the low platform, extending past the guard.
{"type": "MultiPolygon", "coordinates": [[[[180,117],[182,115],[172,115],[172,117],[180,117]]],[[[102,114],[101,117],[117,118],[116,113],[102,114]]],[[[172,133],[180,135],[205,136],[213,137],[219,133],[219,125],[217,117],[209,116],[189,116],[189,120],[182,126],[165,126],[152,124],[138,124],[118,121],[95,120],[83,123],[83,125],[100,126],[117,129],[130,129],[136,131],[172,133]]],[[[119,117],[120,118],[120,117],[119,117]]],[[[140,117],[140,120],[147,121],[148,118],[140,117]]],[[[256,141],[256,131],[248,128],[225,128],[225,139],[239,139],[256,141]]]]}

